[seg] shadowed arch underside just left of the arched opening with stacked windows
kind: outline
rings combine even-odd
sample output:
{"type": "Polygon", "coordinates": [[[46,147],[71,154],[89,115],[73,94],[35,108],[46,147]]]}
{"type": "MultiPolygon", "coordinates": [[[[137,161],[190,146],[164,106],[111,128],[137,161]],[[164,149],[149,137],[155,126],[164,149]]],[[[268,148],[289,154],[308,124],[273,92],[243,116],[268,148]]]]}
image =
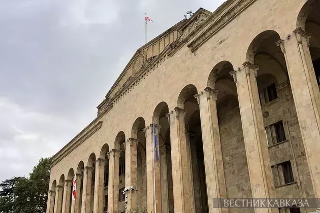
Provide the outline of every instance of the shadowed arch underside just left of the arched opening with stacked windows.
{"type": "Polygon", "coordinates": [[[215,89],[215,83],[217,80],[221,78],[229,78],[232,80],[230,72],[233,70],[233,65],[229,61],[220,61],[211,70],[207,86],[211,89],[215,89]]]}

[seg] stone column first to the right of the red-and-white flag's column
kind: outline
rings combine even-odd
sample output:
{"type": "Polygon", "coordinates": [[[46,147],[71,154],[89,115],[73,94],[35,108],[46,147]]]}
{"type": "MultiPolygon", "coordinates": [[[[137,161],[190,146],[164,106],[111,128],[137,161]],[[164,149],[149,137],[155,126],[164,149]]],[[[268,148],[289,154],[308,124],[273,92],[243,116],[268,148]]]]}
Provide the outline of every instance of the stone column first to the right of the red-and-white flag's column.
{"type": "Polygon", "coordinates": [[[81,213],[90,213],[92,171],[93,167],[84,168],[81,213]]]}

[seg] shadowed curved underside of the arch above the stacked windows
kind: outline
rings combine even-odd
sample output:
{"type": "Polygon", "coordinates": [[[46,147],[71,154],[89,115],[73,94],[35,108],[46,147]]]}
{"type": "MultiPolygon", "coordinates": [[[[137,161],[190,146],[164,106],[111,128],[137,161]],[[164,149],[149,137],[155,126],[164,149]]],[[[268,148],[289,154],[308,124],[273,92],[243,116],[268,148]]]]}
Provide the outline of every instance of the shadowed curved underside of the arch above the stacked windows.
{"type": "MultiPolygon", "coordinates": [[[[261,47],[260,44],[262,43],[268,43],[268,40],[274,40],[276,38],[276,41],[280,40],[280,35],[278,32],[274,30],[265,30],[261,33],[259,33],[253,41],[250,43],[247,53],[246,53],[246,61],[254,64],[254,56],[259,51],[258,48],[261,47]],[[267,42],[265,42],[267,41],[267,42]]],[[[276,44],[274,44],[276,45],[276,44]]],[[[280,52],[281,53],[281,52],[280,52]]],[[[282,53],[281,53],[282,54],[282,53]]]]}

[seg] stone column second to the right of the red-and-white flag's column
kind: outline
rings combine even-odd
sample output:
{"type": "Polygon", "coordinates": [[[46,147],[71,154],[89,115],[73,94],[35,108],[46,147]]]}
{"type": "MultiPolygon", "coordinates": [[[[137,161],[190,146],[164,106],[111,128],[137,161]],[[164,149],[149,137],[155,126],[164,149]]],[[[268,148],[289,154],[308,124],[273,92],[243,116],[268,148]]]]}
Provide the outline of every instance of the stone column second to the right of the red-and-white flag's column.
{"type": "Polygon", "coordinates": [[[106,160],[102,158],[97,159],[95,164],[95,180],[94,180],[94,200],[93,212],[103,213],[104,207],[104,177],[105,177],[105,163],[106,160]]]}

